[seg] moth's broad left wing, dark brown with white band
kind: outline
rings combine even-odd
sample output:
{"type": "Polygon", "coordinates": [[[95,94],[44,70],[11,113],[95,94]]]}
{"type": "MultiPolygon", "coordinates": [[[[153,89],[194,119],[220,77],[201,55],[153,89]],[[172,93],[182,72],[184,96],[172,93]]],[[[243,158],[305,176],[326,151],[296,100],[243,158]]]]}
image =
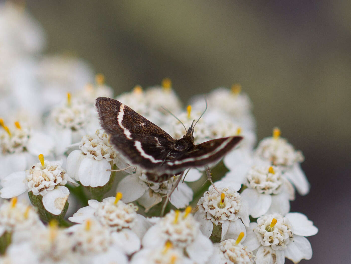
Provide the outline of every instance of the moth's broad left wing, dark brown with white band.
{"type": "Polygon", "coordinates": [[[115,99],[99,97],[95,105],[101,127],[131,164],[149,170],[160,167],[174,145],[170,135],[115,99]]]}

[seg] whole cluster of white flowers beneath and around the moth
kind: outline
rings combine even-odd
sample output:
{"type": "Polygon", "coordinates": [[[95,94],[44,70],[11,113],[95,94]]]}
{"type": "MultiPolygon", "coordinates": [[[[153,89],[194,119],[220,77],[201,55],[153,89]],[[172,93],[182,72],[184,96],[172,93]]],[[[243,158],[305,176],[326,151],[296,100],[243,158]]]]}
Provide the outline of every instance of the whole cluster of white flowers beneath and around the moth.
{"type": "Polygon", "coordinates": [[[240,85],[195,97],[186,109],[168,78],[115,97],[176,139],[191,124],[196,144],[243,137],[223,162],[210,164],[217,181],[208,189],[201,168],[153,182],[100,127],[95,99],[113,97],[104,76],[94,81],[85,62],[43,55],[44,44],[22,7],[0,4],[0,263],[283,264],[312,257],[305,237],[318,229],[290,212],[295,189],[306,195],[310,188],[303,155],[278,128],[254,149],[252,104],[240,85]]]}

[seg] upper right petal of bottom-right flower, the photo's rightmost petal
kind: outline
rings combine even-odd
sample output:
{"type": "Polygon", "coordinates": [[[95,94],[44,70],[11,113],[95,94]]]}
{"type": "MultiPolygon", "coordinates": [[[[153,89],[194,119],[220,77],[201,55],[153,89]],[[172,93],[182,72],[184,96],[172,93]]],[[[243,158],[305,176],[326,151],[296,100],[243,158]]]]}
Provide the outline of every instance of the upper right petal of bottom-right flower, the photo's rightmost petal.
{"type": "Polygon", "coordinates": [[[302,213],[288,213],[285,217],[289,219],[293,228],[293,233],[298,236],[309,237],[318,232],[318,228],[313,225],[313,222],[308,220],[306,215],[302,213]]]}

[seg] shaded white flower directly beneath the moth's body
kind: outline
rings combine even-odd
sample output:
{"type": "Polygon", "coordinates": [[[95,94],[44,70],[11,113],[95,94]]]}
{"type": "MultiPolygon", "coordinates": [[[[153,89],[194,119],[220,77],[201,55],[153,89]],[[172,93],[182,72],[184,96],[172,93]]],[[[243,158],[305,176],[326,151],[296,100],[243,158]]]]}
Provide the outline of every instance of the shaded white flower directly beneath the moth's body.
{"type": "MultiPolygon", "coordinates": [[[[190,175],[189,180],[194,180],[197,176],[201,176],[201,174],[194,172],[193,175],[190,175]]],[[[149,181],[145,173],[137,169],[134,174],[127,175],[119,182],[117,192],[124,193],[122,200],[126,203],[138,200],[138,203],[147,212],[151,207],[162,201],[162,197],[171,191],[176,181],[177,178],[175,177],[164,182],[149,181]]],[[[170,202],[177,208],[185,208],[192,199],[192,189],[186,183],[179,182],[178,187],[171,194],[170,202]]]]}

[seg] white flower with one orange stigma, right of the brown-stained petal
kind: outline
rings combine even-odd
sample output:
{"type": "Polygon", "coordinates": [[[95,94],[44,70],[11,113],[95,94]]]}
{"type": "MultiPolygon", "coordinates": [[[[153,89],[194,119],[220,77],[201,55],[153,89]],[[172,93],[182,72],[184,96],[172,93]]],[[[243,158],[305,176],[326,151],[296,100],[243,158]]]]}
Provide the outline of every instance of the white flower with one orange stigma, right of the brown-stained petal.
{"type": "MultiPolygon", "coordinates": [[[[133,243],[132,240],[135,239],[135,235],[142,238],[150,224],[143,215],[136,213],[138,206],[132,203],[125,204],[120,200],[121,198],[122,194],[117,193],[116,197],[105,198],[102,202],[89,200],[88,206],[80,208],[68,220],[81,224],[86,219],[95,218],[101,225],[110,228],[111,231],[123,231],[128,234],[128,242],[133,243]]],[[[129,246],[124,244],[122,247],[129,246]]]]}

